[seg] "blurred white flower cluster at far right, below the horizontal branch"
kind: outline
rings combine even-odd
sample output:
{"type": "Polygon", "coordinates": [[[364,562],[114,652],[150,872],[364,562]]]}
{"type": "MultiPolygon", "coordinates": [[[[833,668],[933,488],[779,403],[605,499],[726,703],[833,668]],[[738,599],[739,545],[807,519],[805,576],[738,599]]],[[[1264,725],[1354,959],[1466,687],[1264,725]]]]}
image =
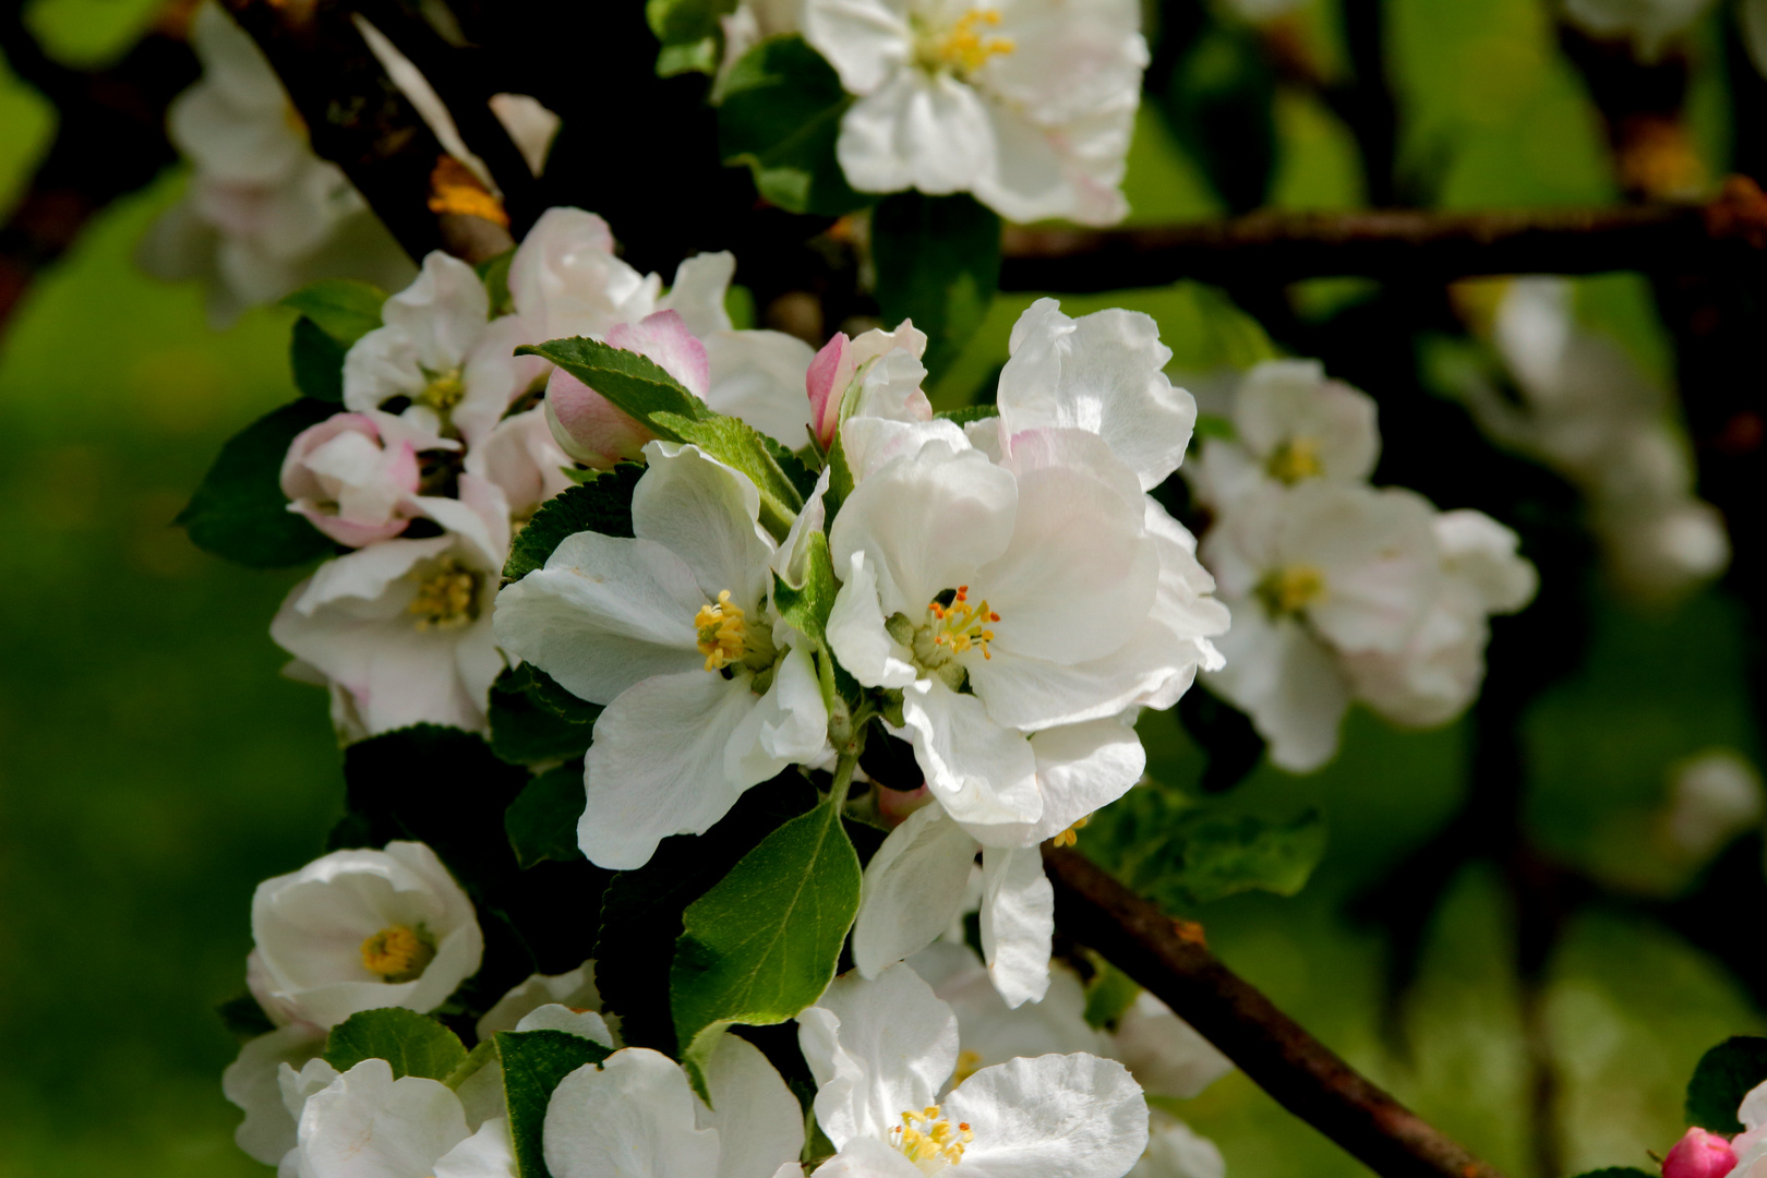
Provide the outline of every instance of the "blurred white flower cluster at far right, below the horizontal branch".
{"type": "Polygon", "coordinates": [[[1468,381],[1467,404],[1495,442],[1583,493],[1615,585],[1668,600],[1721,574],[1730,539],[1718,509],[1693,495],[1693,456],[1668,390],[1619,341],[1576,321],[1571,283],[1511,283],[1493,337],[1521,403],[1468,381]]]}

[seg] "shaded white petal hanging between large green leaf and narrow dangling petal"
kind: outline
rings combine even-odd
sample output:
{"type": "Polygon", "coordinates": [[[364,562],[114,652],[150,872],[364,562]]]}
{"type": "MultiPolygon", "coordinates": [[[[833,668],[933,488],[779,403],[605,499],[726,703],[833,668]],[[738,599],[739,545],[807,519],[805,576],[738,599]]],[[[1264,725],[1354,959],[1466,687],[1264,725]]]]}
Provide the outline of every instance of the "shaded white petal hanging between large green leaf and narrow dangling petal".
{"type": "Polygon", "coordinates": [[[853,964],[875,978],[931,945],[963,908],[975,839],[940,805],[922,805],[889,832],[866,865],[853,964]]]}

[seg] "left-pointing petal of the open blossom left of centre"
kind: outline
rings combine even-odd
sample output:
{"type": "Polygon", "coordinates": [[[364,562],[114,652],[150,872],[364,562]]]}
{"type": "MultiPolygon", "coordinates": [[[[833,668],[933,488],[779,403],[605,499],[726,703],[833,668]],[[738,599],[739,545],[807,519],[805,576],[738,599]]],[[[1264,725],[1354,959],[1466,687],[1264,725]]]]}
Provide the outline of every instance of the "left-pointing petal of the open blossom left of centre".
{"type": "Polygon", "coordinates": [[[693,618],[705,593],[654,540],[578,532],[497,595],[497,641],[590,703],[652,675],[705,666],[693,618]]]}

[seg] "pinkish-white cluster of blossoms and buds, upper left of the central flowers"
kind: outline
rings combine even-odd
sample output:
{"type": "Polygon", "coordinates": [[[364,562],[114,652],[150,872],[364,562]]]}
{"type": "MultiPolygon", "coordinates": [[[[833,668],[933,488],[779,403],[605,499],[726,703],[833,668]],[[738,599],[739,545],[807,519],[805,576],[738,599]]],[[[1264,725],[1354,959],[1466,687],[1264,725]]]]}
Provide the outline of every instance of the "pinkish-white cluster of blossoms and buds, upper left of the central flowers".
{"type": "MultiPolygon", "coordinates": [[[[346,738],[433,722],[482,729],[505,662],[491,602],[512,530],[571,486],[574,461],[636,457],[636,427],[519,344],[606,337],[663,357],[709,404],[804,434],[808,344],[732,330],[730,254],[682,263],[675,286],[620,261],[599,217],[553,208],[509,267],[495,316],[477,272],[424,260],[385,325],[345,357],[345,412],[295,438],[283,491],[355,551],[288,595],[270,634],[325,682],[346,738]],[[535,397],[550,389],[544,406],[535,397]],[[426,535],[410,535],[422,521],[426,535]]],[[[645,434],[647,436],[647,434],[645,434]]]]}

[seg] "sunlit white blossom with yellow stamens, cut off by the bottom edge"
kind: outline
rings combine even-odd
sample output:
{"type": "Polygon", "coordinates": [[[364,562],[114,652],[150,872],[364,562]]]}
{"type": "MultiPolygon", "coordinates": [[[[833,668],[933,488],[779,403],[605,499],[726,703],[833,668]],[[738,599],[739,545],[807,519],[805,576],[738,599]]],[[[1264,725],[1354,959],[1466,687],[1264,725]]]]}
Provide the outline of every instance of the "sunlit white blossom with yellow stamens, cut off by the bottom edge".
{"type": "Polygon", "coordinates": [[[958,1019],[905,964],[836,978],[799,1016],[829,1178],[914,1178],[951,1164],[998,1174],[1120,1178],[1147,1146],[1129,1070],[1087,1053],[1014,1058],[945,1088],[958,1019]]]}

